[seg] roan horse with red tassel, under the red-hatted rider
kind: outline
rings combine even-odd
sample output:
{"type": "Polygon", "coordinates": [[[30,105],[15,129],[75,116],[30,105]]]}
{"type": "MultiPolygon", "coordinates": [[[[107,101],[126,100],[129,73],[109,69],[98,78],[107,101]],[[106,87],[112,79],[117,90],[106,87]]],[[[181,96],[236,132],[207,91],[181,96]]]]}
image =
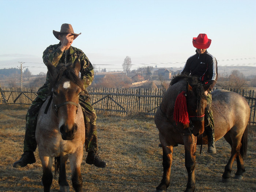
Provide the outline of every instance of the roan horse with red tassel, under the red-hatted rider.
{"type": "MultiPolygon", "coordinates": [[[[195,191],[196,144],[208,143],[204,133],[206,104],[203,86],[197,82],[197,78],[178,75],[172,80],[155,114],[155,124],[159,129],[159,139],[163,149],[163,177],[155,192],[165,192],[170,185],[173,147],[177,144],[183,144],[185,148],[185,167],[188,172],[185,192],[195,191]],[[177,100],[179,98],[177,104],[176,98],[177,100]],[[185,110],[181,109],[179,102],[182,99],[180,98],[185,101],[185,110]],[[181,114],[177,115],[177,112],[181,114]],[[187,113],[188,121],[184,121],[185,117],[182,113],[187,113]],[[179,116],[183,119],[174,120],[179,116]]],[[[243,157],[247,150],[248,131],[246,127],[249,121],[249,105],[245,98],[234,92],[215,90],[212,92],[212,111],[215,141],[224,136],[231,146],[231,157],[225,166],[222,182],[230,180],[235,159],[237,160],[235,178],[242,179],[245,172],[243,157]]]]}

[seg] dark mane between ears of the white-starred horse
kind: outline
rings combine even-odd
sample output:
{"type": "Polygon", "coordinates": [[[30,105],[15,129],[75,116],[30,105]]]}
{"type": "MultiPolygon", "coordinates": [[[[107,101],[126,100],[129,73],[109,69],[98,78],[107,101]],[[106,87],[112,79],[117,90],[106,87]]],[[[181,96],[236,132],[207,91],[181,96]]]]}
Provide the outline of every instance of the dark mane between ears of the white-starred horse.
{"type": "Polygon", "coordinates": [[[76,75],[74,71],[74,64],[69,63],[65,64],[58,64],[56,69],[58,69],[58,73],[55,74],[50,80],[50,87],[52,88],[54,84],[59,82],[62,76],[65,76],[67,79],[71,80],[71,82],[75,83],[81,89],[83,89],[83,80],[76,75]]]}

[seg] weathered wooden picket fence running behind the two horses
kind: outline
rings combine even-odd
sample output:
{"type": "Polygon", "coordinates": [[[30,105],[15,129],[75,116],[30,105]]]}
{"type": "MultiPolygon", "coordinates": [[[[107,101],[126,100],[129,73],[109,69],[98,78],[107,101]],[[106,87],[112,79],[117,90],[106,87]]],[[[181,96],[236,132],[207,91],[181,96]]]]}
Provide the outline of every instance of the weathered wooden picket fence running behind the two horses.
{"type": "MultiPolygon", "coordinates": [[[[5,103],[29,106],[37,97],[39,87],[30,88],[0,88],[2,100],[5,103]]],[[[125,116],[130,113],[143,113],[154,116],[162,101],[166,89],[125,89],[125,88],[94,88],[87,89],[91,103],[97,112],[125,116]]],[[[256,124],[254,90],[230,90],[246,98],[251,108],[250,123],[256,124]]]]}

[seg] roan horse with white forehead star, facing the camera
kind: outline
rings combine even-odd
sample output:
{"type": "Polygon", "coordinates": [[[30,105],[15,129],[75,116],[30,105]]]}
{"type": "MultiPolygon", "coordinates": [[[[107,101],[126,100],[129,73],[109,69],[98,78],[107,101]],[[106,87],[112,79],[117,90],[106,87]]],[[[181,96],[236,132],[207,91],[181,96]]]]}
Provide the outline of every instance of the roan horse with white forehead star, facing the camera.
{"type": "Polygon", "coordinates": [[[69,191],[65,168],[69,158],[72,185],[76,192],[80,192],[83,184],[80,165],[85,140],[84,116],[78,104],[83,89],[79,78],[80,62],[57,67],[48,62],[47,68],[53,77],[50,83],[52,96],[39,111],[35,132],[43,168],[42,184],[45,192],[50,191],[53,158],[58,157],[60,191],[69,191]]]}

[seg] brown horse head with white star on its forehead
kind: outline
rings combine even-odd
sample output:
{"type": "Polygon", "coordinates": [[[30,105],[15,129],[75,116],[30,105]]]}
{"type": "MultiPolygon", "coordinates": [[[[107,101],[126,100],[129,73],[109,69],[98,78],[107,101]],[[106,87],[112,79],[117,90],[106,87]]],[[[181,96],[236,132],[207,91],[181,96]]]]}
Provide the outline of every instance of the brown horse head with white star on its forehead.
{"type": "Polygon", "coordinates": [[[54,67],[48,61],[48,71],[51,75],[52,103],[59,119],[59,131],[63,140],[72,140],[78,129],[75,122],[79,107],[79,95],[83,90],[83,82],[79,78],[80,62],[74,64],[59,64],[54,67]]]}

